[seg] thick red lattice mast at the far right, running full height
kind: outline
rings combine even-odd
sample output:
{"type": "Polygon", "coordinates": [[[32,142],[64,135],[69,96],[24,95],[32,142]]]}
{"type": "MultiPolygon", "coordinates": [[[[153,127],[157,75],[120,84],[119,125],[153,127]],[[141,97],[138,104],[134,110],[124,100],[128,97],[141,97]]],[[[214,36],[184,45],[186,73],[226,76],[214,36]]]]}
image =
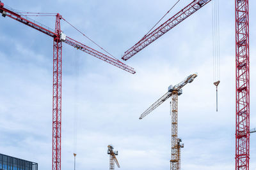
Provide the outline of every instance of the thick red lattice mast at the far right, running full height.
{"type": "Polygon", "coordinates": [[[236,170],[250,159],[250,60],[248,0],[236,0],[236,170]]]}

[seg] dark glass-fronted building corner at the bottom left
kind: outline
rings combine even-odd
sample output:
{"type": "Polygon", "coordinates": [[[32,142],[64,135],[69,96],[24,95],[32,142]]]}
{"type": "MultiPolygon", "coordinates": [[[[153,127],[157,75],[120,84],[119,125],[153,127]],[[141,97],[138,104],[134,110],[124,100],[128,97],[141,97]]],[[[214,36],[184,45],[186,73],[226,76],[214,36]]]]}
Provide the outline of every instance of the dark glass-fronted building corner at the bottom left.
{"type": "Polygon", "coordinates": [[[38,164],[0,153],[0,170],[38,170],[38,164]]]}

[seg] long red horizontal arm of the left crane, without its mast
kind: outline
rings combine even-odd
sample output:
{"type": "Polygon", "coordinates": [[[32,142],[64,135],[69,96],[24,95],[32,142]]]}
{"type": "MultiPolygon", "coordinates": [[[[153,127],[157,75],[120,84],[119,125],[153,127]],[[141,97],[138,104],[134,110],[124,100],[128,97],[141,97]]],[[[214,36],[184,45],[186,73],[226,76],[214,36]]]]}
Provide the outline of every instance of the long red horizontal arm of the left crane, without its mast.
{"type": "MultiPolygon", "coordinates": [[[[32,20],[29,17],[22,16],[19,14],[19,11],[15,11],[12,8],[4,6],[3,3],[0,1],[0,13],[2,13],[3,17],[10,17],[14,20],[17,20],[21,22],[22,24],[26,24],[29,27],[32,27],[33,29],[36,29],[40,32],[43,32],[44,34],[47,34],[48,36],[51,36],[52,38],[58,37],[60,35],[56,34],[55,31],[43,24],[40,24],[39,22],[36,22],[35,20],[32,20]]],[[[100,53],[97,50],[94,50],[93,48],[90,48],[86,45],[83,45],[82,43],[79,43],[78,41],[67,37],[64,43],[67,43],[68,45],[74,46],[77,49],[86,52],[94,57],[97,57],[100,60],[104,60],[105,62],[108,62],[109,64],[112,64],[113,66],[116,66],[120,69],[124,69],[125,71],[135,74],[136,71],[130,66],[127,66],[126,64],[120,62],[120,60],[113,59],[112,57],[109,57],[108,55],[105,55],[104,53],[100,53]]]]}

